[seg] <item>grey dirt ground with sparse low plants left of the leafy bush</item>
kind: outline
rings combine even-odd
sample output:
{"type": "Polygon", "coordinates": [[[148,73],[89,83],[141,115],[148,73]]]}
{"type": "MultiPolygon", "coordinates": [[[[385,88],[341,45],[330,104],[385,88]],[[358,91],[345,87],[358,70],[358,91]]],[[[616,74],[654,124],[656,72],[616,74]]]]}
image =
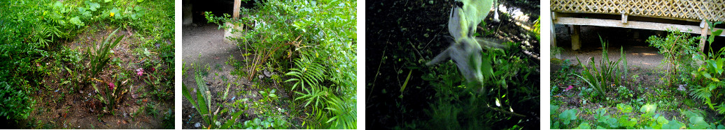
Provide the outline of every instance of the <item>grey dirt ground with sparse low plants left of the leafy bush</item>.
{"type": "MultiPolygon", "coordinates": [[[[237,45],[224,41],[224,30],[218,29],[217,24],[191,24],[189,26],[183,26],[183,62],[184,62],[184,74],[183,74],[183,85],[188,90],[193,90],[192,95],[196,93],[196,80],[194,79],[195,71],[207,72],[208,75],[203,75],[206,85],[209,87],[212,95],[212,108],[213,109],[232,109],[232,103],[244,98],[248,98],[249,101],[245,103],[253,103],[261,98],[259,91],[260,88],[276,89],[280,101],[289,101],[289,93],[285,92],[280,88],[278,83],[263,83],[261,81],[250,82],[245,77],[239,77],[233,75],[235,68],[233,65],[227,64],[227,62],[240,62],[244,65],[242,60],[242,50],[237,45]],[[191,65],[202,65],[202,68],[195,70],[191,65]],[[206,66],[206,67],[204,67],[206,66]],[[208,70],[207,70],[208,69],[208,70]],[[263,86],[263,87],[262,87],[263,86]],[[222,97],[225,90],[228,89],[228,96],[226,100],[222,97]],[[232,100],[233,99],[233,100],[232,100]]],[[[278,73],[278,72],[277,72],[278,73]]],[[[270,80],[270,78],[262,78],[263,80],[270,80]]],[[[196,108],[191,106],[186,98],[183,98],[183,117],[182,117],[182,128],[183,129],[204,129],[203,126],[208,126],[202,121],[202,117],[199,116],[199,112],[196,108]],[[196,123],[200,123],[202,127],[194,126],[196,123]]],[[[274,106],[277,108],[287,109],[286,105],[274,106]]],[[[250,119],[254,119],[255,109],[249,108],[245,111],[242,117],[237,121],[244,122],[250,119]]],[[[231,119],[230,113],[224,113],[219,116],[217,121],[226,121],[231,119]]]]}

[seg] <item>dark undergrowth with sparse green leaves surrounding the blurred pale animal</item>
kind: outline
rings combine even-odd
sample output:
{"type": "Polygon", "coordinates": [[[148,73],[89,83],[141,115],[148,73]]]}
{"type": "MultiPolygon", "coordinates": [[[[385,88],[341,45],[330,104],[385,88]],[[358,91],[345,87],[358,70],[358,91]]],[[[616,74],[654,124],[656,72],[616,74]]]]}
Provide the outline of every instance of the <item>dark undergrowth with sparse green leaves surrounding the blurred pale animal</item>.
{"type": "Polygon", "coordinates": [[[451,45],[455,1],[367,1],[366,128],[538,129],[538,1],[499,2],[499,22],[491,11],[471,25],[476,37],[505,41],[480,52],[475,85],[453,60],[426,65],[451,45]]]}

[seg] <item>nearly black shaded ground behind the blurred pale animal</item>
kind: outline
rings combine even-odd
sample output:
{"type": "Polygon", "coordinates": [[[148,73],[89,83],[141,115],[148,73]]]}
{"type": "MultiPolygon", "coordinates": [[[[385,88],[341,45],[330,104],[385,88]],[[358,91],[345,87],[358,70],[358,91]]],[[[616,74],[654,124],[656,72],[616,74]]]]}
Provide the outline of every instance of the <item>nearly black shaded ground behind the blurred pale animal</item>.
{"type": "MultiPolygon", "coordinates": [[[[539,18],[538,3],[539,1],[501,1],[507,7],[500,8],[501,22],[492,22],[492,11],[484,19],[487,24],[482,23],[483,26],[479,26],[479,33],[484,37],[521,42],[523,52],[531,54],[526,58],[538,61],[539,41],[524,29],[532,27],[533,22],[539,18]]],[[[436,95],[436,90],[421,78],[430,73],[426,71],[429,67],[423,63],[450,45],[442,37],[450,36],[447,22],[453,5],[453,1],[366,2],[366,128],[399,128],[411,126],[411,121],[414,120],[426,121],[430,118],[424,110],[431,108],[431,103],[436,100],[431,99],[431,96],[436,95]],[[405,83],[405,73],[409,71],[411,75],[405,91],[415,94],[399,98],[402,96],[399,92],[400,86],[405,83]]],[[[539,124],[536,119],[527,121],[539,124]]]]}

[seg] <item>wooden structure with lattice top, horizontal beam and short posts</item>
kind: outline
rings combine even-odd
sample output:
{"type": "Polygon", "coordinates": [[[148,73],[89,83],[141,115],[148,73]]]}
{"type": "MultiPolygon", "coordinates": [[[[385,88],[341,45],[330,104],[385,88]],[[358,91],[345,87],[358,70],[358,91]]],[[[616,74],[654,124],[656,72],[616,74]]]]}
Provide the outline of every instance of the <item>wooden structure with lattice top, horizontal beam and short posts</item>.
{"type": "MultiPolygon", "coordinates": [[[[569,24],[573,27],[573,50],[581,47],[578,36],[581,25],[652,30],[675,28],[707,36],[710,31],[705,21],[725,22],[725,0],[551,0],[551,11],[552,46],[556,46],[553,24],[569,24]],[[602,17],[602,14],[609,17],[602,17]],[[629,16],[635,19],[630,21],[629,16]],[[683,24],[687,22],[700,24],[683,24]]],[[[700,49],[704,45],[703,38],[700,49]]]]}

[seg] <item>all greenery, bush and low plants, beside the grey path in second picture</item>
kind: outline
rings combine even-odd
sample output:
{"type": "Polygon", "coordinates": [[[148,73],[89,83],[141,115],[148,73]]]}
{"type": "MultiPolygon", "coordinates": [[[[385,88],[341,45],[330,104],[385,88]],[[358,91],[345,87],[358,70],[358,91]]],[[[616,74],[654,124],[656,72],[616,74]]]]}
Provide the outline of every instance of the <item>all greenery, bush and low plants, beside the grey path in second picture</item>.
{"type": "Polygon", "coordinates": [[[204,13],[241,57],[185,62],[184,129],[356,129],[356,2],[243,2],[239,19],[204,13]]]}

